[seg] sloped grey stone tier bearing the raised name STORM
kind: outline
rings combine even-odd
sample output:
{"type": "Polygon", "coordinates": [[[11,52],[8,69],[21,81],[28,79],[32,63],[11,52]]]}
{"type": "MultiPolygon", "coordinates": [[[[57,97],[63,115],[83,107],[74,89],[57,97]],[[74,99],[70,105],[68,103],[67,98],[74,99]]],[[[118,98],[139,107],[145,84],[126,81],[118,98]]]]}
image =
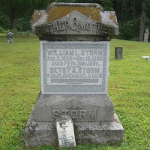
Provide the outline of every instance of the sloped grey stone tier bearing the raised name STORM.
{"type": "Polygon", "coordinates": [[[114,105],[107,94],[51,95],[39,94],[35,104],[35,121],[55,121],[69,115],[73,122],[113,121],[114,105]]]}

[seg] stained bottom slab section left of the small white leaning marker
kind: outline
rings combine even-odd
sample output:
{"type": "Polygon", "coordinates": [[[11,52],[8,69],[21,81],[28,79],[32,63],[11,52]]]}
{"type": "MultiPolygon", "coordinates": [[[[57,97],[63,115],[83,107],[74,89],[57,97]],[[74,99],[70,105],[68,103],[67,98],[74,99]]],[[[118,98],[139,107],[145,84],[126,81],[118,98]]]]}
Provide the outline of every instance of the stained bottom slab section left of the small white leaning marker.
{"type": "Polygon", "coordinates": [[[51,145],[58,143],[55,122],[35,122],[34,110],[26,124],[24,132],[25,146],[51,145]]]}

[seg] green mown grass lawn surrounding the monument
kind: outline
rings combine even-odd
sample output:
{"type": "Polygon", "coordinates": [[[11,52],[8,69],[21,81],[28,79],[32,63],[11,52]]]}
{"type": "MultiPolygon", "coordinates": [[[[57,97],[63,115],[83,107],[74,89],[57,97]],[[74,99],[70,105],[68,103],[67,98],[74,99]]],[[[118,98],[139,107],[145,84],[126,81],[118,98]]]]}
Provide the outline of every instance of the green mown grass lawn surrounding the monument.
{"type": "MultiPolygon", "coordinates": [[[[40,92],[38,37],[0,34],[0,149],[55,150],[57,145],[26,148],[23,133],[40,92]]],[[[122,143],[77,145],[75,150],[150,149],[150,43],[113,39],[110,44],[108,94],[124,127],[122,143]],[[115,60],[115,47],[123,59],[115,60]]],[[[69,148],[66,148],[69,149],[69,148]]]]}

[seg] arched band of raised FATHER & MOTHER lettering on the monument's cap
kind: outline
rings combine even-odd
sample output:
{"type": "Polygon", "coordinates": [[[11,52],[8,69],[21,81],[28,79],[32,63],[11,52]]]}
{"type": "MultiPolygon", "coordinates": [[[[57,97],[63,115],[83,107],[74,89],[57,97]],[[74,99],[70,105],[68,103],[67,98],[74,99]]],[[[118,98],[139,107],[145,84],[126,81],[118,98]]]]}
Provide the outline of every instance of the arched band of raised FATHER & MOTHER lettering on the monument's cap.
{"type": "Polygon", "coordinates": [[[91,22],[82,22],[76,18],[73,19],[73,22],[68,21],[56,21],[54,23],[48,23],[41,26],[36,26],[37,34],[55,34],[62,31],[75,31],[80,32],[91,32],[93,34],[100,35],[114,35],[114,27],[108,26],[102,23],[91,23],[91,22]]]}

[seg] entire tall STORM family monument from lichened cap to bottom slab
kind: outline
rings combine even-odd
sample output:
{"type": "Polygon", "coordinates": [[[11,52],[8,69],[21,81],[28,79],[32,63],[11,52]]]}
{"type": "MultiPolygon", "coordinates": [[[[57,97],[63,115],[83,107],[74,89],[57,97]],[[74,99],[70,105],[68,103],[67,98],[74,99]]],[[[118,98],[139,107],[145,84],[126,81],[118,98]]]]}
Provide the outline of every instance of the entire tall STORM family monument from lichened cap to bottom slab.
{"type": "Polygon", "coordinates": [[[124,129],[107,94],[114,11],[99,4],[52,3],[33,14],[40,39],[41,92],[27,122],[26,146],[58,143],[56,119],[73,120],[77,144],[123,141],[124,129]]]}

